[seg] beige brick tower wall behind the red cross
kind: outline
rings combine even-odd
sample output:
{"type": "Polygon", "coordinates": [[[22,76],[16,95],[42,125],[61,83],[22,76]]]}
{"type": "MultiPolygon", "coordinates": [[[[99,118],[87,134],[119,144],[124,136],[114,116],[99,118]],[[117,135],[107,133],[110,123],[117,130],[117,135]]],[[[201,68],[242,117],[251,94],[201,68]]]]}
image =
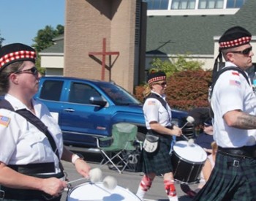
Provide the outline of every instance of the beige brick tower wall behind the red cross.
{"type": "MultiPolygon", "coordinates": [[[[130,0],[66,0],[64,36],[64,75],[101,79],[102,56],[95,61],[89,52],[102,51],[106,38],[107,51],[118,51],[111,56],[111,73],[105,69],[105,80],[113,80],[128,91],[135,83],[135,7],[130,0]]],[[[106,57],[109,66],[109,56],[106,57]]]]}

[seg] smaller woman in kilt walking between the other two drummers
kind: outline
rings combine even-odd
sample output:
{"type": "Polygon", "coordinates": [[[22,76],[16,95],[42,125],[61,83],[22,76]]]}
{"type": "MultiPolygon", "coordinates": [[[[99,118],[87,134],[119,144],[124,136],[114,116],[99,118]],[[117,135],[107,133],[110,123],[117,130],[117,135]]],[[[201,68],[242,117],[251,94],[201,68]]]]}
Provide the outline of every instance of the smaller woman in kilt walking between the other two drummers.
{"type": "Polygon", "coordinates": [[[146,100],[143,113],[149,134],[159,137],[157,150],[148,153],[143,149],[143,178],[138,187],[137,196],[143,200],[156,175],[163,175],[169,200],[178,200],[174,186],[173,167],[170,162],[170,142],[172,136],[180,136],[181,129],[171,124],[171,110],[165,101],[165,72],[151,72],[148,75],[148,87],[144,91],[146,100]]]}

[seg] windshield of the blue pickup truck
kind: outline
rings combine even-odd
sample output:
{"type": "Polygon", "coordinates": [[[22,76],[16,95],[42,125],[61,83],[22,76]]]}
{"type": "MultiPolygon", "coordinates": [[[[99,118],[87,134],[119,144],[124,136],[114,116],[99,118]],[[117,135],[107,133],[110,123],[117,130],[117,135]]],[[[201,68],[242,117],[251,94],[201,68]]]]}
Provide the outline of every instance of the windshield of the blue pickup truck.
{"type": "Polygon", "coordinates": [[[98,86],[108,94],[115,105],[141,105],[138,99],[135,99],[132,94],[129,94],[129,92],[121,88],[121,86],[117,86],[113,83],[99,83],[98,86]]]}

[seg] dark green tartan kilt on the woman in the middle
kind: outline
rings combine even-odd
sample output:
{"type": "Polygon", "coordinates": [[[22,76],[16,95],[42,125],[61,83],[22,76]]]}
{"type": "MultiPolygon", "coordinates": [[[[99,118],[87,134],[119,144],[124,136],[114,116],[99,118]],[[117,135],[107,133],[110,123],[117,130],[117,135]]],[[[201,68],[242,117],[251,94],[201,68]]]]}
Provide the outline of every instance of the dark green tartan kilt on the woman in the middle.
{"type": "Polygon", "coordinates": [[[143,172],[154,172],[156,175],[165,174],[173,171],[170,162],[170,143],[172,138],[159,137],[159,145],[154,153],[148,153],[143,150],[143,172]]]}

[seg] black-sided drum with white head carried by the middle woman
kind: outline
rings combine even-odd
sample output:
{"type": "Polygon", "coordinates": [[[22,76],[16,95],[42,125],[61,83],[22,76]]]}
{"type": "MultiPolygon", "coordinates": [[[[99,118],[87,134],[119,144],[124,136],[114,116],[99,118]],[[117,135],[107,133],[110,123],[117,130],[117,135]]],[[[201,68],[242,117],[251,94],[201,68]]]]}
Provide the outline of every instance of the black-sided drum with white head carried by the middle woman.
{"type": "Polygon", "coordinates": [[[181,183],[195,183],[206,162],[207,154],[200,145],[178,141],[173,145],[171,162],[173,177],[181,183]]]}

